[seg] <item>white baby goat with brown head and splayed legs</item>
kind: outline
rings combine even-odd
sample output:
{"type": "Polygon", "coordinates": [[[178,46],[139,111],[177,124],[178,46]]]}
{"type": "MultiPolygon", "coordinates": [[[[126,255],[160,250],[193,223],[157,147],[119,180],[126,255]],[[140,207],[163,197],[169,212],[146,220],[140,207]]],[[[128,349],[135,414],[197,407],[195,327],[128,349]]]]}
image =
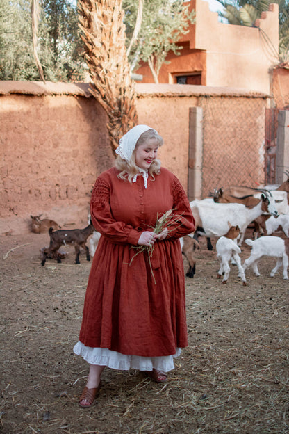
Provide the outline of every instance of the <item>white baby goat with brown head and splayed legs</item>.
{"type": "Polygon", "coordinates": [[[226,284],[230,273],[229,261],[233,258],[238,266],[243,286],[246,287],[245,273],[241,265],[240,256],[238,255],[241,249],[237,246],[237,242],[233,241],[237,241],[240,236],[240,227],[232,226],[230,222],[228,222],[228,225],[229,231],[224,236],[221,236],[216,243],[217,259],[220,261],[220,270],[218,271],[217,278],[220,279],[224,273],[223,283],[226,284]]]}

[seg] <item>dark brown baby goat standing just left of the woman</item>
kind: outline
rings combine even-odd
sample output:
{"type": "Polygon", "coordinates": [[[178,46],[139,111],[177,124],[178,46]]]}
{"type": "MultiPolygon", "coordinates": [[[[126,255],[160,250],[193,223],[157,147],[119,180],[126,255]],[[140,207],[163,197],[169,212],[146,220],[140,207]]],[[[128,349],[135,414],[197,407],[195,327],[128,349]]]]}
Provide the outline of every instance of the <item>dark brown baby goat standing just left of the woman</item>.
{"type": "Polygon", "coordinates": [[[41,265],[43,266],[46,262],[48,255],[55,255],[57,262],[61,262],[60,256],[58,255],[58,249],[63,244],[72,244],[75,248],[75,263],[80,264],[79,262],[79,253],[80,253],[80,247],[82,247],[85,250],[86,253],[86,259],[90,261],[90,252],[88,250],[88,246],[85,245],[86,240],[88,239],[88,236],[92,234],[94,231],[94,227],[92,226],[92,223],[90,223],[87,227],[84,229],[72,229],[72,230],[57,230],[54,231],[52,228],[49,229],[49,236],[50,236],[50,244],[48,248],[45,248],[42,252],[42,262],[41,265]]]}

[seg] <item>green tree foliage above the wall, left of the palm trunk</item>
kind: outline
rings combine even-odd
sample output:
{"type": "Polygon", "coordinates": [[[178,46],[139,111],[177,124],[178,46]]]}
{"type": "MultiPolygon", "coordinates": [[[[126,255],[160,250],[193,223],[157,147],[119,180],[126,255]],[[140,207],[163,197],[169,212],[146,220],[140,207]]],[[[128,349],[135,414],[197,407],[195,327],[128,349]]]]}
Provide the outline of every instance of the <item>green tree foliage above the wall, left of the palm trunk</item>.
{"type": "MultiPolygon", "coordinates": [[[[38,56],[47,81],[81,81],[76,6],[65,0],[43,0],[38,27],[38,56]]],[[[0,1],[0,79],[39,81],[33,56],[30,0],[0,1]]]]}

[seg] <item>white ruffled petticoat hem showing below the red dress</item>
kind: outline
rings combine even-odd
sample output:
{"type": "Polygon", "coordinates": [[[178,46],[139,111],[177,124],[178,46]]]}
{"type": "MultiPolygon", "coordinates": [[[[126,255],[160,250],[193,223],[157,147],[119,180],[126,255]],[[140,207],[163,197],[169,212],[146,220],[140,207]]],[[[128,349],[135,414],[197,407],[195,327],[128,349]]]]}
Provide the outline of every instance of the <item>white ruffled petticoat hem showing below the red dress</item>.
{"type": "Polygon", "coordinates": [[[168,372],[174,369],[174,357],[181,354],[181,348],[176,348],[174,355],[162,355],[158,357],[142,357],[140,355],[126,355],[108,348],[91,348],[83,345],[80,341],[74,346],[74,353],[81,355],[90,364],[99,364],[120,371],[138,369],[139,371],[158,371],[168,372]]]}

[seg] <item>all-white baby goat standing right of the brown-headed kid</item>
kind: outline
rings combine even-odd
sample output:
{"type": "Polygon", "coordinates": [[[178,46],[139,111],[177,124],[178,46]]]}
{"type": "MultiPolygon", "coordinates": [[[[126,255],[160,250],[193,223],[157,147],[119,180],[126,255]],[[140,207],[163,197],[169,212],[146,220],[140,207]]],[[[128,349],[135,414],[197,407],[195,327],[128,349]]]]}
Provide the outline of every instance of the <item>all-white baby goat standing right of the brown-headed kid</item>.
{"type": "Polygon", "coordinates": [[[244,271],[251,266],[255,275],[259,276],[258,262],[263,256],[272,256],[277,258],[276,266],[272,269],[270,276],[273,278],[278,268],[283,262],[283,279],[288,279],[288,256],[289,256],[289,239],[281,239],[279,236],[261,236],[252,241],[245,240],[248,246],[251,246],[251,255],[243,264],[244,271]]]}

